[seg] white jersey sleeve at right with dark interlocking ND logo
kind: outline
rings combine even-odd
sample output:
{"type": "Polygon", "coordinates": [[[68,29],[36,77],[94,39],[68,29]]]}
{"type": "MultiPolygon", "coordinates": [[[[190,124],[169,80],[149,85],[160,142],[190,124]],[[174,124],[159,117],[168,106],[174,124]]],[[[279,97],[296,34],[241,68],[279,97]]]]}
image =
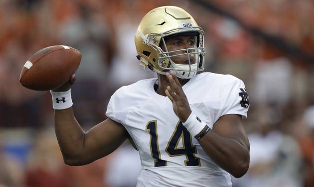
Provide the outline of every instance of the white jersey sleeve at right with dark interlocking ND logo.
{"type": "Polygon", "coordinates": [[[238,79],[226,89],[221,116],[239,114],[242,118],[246,118],[249,106],[250,101],[245,85],[238,79]]]}

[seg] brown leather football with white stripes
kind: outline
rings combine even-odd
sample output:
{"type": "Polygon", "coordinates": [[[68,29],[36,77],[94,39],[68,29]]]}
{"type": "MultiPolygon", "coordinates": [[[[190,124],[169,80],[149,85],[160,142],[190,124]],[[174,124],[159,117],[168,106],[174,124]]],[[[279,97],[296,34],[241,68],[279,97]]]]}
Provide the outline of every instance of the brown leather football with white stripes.
{"type": "Polygon", "coordinates": [[[66,45],[43,48],[26,61],[19,82],[23,87],[36,91],[58,88],[76,72],[81,58],[77,49],[66,45]]]}

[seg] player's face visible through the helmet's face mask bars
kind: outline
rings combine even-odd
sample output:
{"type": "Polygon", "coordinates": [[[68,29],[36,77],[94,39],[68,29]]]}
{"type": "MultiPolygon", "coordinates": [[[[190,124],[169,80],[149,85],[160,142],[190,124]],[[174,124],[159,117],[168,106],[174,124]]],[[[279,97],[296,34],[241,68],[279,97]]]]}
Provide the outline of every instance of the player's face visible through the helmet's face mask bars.
{"type": "MultiPolygon", "coordinates": [[[[196,37],[195,36],[174,36],[165,41],[166,47],[168,52],[169,51],[175,51],[180,49],[187,49],[187,48],[195,48],[196,47],[196,37]]],[[[164,45],[161,45],[162,50],[165,50],[164,45]]],[[[189,54],[188,53],[195,52],[195,49],[189,49],[189,50],[181,50],[176,52],[170,52],[169,56],[171,57],[171,60],[175,64],[194,64],[195,63],[195,56],[196,54],[189,54]],[[176,55],[176,56],[173,56],[176,55]]]]}

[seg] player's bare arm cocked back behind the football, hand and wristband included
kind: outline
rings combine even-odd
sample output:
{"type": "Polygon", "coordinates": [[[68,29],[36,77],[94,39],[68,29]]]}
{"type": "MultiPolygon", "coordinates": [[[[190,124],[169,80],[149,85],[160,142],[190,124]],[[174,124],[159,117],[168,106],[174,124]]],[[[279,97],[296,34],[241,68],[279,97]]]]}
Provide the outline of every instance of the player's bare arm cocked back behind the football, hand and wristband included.
{"type": "Polygon", "coordinates": [[[122,124],[110,118],[84,132],[71,107],[70,87],[74,81],[73,74],[66,84],[50,93],[55,109],[55,132],[63,160],[68,165],[81,166],[112,153],[128,138],[128,132],[122,124]]]}

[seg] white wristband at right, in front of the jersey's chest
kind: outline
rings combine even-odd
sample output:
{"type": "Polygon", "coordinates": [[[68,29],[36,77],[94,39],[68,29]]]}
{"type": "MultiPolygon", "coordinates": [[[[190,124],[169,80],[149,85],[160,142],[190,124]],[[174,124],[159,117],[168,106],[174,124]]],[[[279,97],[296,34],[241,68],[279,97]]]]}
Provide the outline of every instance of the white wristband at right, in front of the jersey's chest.
{"type": "Polygon", "coordinates": [[[195,137],[204,129],[206,123],[204,123],[199,117],[197,117],[192,112],[190,116],[187,118],[187,120],[183,123],[183,125],[190,132],[190,134],[193,137],[195,137]]]}

